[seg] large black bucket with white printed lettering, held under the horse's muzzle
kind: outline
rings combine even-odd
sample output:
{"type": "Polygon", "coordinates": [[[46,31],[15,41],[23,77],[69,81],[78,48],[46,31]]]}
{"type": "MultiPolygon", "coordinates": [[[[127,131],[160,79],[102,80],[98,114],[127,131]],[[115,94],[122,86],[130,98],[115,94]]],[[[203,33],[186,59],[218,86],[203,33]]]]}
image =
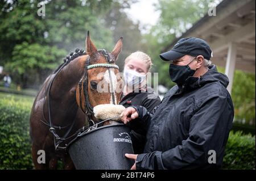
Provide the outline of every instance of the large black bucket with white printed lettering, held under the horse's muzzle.
{"type": "Polygon", "coordinates": [[[134,160],[125,157],[133,154],[130,128],[124,124],[110,124],[86,132],[68,149],[79,170],[128,170],[134,160]]]}

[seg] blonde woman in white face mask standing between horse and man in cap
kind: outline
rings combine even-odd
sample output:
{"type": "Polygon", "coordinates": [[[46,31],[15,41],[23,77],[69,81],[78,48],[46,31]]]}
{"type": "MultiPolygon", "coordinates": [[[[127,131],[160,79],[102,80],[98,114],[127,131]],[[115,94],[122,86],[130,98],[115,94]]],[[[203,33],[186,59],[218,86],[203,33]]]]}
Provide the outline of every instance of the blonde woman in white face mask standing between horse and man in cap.
{"type": "MultiPolygon", "coordinates": [[[[160,104],[159,96],[156,96],[153,89],[146,84],[146,75],[150,73],[151,66],[150,56],[140,51],[131,53],[125,59],[123,68],[125,86],[119,104],[126,108],[133,105],[143,106],[149,112],[160,104]]],[[[137,125],[137,122],[139,121],[133,121],[129,127],[132,129],[134,152],[142,153],[146,132],[138,129],[141,126],[137,125]]]]}

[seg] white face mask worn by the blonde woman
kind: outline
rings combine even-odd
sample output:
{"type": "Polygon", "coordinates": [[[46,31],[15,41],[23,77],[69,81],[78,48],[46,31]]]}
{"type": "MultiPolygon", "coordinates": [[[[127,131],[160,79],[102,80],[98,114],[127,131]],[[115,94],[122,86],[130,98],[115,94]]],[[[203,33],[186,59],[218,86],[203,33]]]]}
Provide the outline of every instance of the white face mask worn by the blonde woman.
{"type": "Polygon", "coordinates": [[[146,79],[146,75],[125,68],[123,69],[123,78],[125,79],[126,85],[136,87],[146,79]]]}

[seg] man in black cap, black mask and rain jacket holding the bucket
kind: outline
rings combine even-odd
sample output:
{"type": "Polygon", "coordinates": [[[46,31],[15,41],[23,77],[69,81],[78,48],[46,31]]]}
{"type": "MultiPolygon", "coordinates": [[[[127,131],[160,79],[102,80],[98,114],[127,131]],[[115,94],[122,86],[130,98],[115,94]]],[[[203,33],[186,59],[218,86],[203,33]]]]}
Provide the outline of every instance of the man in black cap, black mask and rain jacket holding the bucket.
{"type": "Polygon", "coordinates": [[[126,154],[131,169],[220,169],[234,117],[229,80],[210,63],[212,50],[195,37],[180,39],[160,54],[170,61],[177,85],[149,113],[142,106],[122,112],[123,123],[138,118],[147,130],[144,153],[126,154]]]}

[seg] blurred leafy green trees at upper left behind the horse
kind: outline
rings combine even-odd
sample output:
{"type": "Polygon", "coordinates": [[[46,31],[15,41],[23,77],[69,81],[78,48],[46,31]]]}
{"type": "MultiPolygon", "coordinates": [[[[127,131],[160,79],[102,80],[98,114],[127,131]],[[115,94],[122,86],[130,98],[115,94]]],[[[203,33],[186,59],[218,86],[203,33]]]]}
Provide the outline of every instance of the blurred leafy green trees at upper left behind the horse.
{"type": "Polygon", "coordinates": [[[91,30],[97,47],[113,48],[112,32],[99,18],[112,1],[1,1],[1,65],[22,87],[39,87],[49,71],[91,30]],[[46,16],[38,16],[38,3],[46,16]],[[35,82],[38,82],[37,84],[35,82]]]}

